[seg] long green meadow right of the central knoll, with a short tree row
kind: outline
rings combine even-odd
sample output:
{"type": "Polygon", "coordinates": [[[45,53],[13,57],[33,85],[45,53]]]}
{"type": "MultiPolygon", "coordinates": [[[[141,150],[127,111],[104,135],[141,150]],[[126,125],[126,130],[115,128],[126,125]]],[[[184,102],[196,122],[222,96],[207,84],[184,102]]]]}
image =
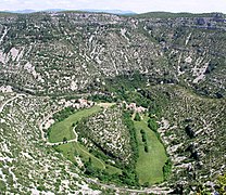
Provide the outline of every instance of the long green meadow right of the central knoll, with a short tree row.
{"type": "Polygon", "coordinates": [[[154,184],[163,181],[162,168],[167,159],[164,146],[158,140],[155,133],[148,128],[147,119],[135,121],[137,130],[137,140],[139,147],[139,158],[136,166],[136,171],[139,177],[140,184],[149,182],[154,184]],[[140,130],[143,129],[147,134],[147,143],[149,152],[145,152],[145,144],[141,139],[140,130]]]}

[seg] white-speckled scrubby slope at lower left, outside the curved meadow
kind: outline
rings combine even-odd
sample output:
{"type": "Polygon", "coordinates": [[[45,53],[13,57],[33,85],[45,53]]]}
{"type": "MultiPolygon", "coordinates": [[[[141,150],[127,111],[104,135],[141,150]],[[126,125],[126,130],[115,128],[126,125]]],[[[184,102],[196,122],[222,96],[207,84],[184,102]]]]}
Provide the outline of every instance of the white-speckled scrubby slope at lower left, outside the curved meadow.
{"type": "Polygon", "coordinates": [[[58,104],[48,98],[13,93],[0,93],[0,100],[1,194],[99,194],[88,187],[72,162],[41,139],[40,122],[58,104]]]}

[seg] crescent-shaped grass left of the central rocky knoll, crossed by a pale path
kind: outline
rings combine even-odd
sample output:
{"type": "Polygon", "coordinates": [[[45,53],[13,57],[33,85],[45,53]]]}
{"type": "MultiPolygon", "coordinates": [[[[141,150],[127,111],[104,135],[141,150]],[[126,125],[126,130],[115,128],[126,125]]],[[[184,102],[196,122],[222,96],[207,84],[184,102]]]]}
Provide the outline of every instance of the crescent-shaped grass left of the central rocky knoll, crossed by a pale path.
{"type": "MultiPolygon", "coordinates": [[[[71,115],[66,119],[60,122],[55,122],[50,130],[49,141],[52,143],[62,142],[63,138],[66,138],[67,141],[75,139],[72,125],[76,121],[79,121],[83,117],[88,117],[95,113],[101,110],[101,106],[93,106],[91,108],[81,109],[71,115]]],[[[97,158],[88,152],[88,150],[79,144],[78,142],[65,143],[56,146],[56,150],[60,151],[64,157],[66,157],[72,162],[76,162],[75,156],[79,156],[83,161],[88,161],[91,158],[92,166],[98,169],[105,169],[110,174],[121,173],[121,169],[117,169],[113,166],[106,165],[103,160],[97,158]]]]}

